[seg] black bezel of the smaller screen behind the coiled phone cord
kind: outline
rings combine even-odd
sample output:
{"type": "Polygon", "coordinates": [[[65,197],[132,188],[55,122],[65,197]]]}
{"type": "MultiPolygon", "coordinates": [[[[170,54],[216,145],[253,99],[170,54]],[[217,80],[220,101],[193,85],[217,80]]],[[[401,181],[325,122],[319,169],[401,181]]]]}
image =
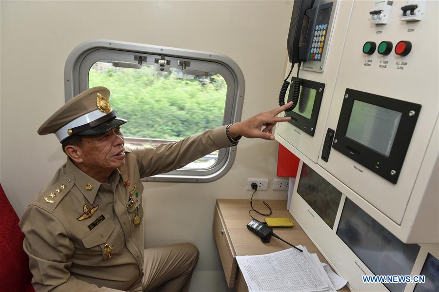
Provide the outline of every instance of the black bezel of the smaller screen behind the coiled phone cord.
{"type": "MultiPolygon", "coordinates": [[[[317,125],[317,119],[319,118],[319,111],[320,111],[320,105],[321,105],[321,99],[323,97],[323,92],[325,91],[325,84],[311,81],[307,79],[301,79],[292,77],[290,85],[290,91],[288,93],[288,102],[290,102],[293,98],[293,92],[294,92],[294,81],[301,81],[301,85],[304,87],[312,88],[316,90],[316,97],[314,98],[314,104],[313,104],[313,110],[311,112],[311,118],[306,118],[303,116],[300,116],[298,113],[295,113],[293,111],[285,112],[285,117],[291,117],[289,120],[289,123],[293,126],[296,126],[306,134],[310,136],[314,136],[314,133],[316,132],[316,125],[317,125]],[[321,90],[320,90],[321,88],[321,90]],[[312,129],[312,130],[311,130],[312,129]]],[[[300,97],[299,97],[300,100],[300,97]]],[[[296,105],[299,106],[299,103],[296,105]]]]}

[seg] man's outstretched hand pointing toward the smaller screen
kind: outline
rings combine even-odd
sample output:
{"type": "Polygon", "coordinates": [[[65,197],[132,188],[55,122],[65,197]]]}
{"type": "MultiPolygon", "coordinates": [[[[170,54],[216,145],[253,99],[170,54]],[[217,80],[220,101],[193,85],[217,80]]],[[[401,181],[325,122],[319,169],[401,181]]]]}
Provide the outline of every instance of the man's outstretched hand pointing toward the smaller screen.
{"type": "Polygon", "coordinates": [[[237,122],[229,128],[229,133],[232,138],[244,136],[247,138],[262,138],[266,140],[274,140],[273,127],[278,122],[286,122],[291,117],[276,117],[279,113],[285,111],[293,105],[290,101],[276,109],[268,112],[260,113],[254,117],[250,117],[242,122],[237,122]],[[265,127],[262,129],[262,127],[265,127]]]}

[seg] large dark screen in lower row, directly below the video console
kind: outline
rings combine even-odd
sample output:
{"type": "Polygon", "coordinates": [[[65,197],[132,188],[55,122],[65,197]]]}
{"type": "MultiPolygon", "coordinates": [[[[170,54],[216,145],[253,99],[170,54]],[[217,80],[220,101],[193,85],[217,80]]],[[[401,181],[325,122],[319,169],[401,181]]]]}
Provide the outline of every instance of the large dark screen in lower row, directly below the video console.
{"type": "MultiPolygon", "coordinates": [[[[346,198],[337,235],[375,275],[410,275],[419,253],[418,244],[407,244],[346,198]]],[[[403,291],[405,283],[383,283],[403,291]]]]}

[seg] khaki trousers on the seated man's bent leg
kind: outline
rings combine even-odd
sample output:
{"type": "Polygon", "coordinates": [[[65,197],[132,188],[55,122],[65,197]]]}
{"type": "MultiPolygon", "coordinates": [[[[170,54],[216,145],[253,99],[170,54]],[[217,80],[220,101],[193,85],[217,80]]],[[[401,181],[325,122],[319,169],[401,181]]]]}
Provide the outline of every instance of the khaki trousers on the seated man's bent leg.
{"type": "Polygon", "coordinates": [[[191,243],[145,250],[142,289],[144,292],[186,292],[200,252],[191,243]]]}

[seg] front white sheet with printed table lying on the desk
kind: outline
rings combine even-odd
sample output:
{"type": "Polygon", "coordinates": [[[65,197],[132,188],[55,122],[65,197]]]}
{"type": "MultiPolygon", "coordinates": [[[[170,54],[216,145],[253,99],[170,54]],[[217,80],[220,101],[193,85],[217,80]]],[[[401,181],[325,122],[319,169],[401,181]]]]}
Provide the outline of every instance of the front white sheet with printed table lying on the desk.
{"type": "Polygon", "coordinates": [[[305,247],[262,255],[236,256],[248,291],[309,292],[335,291],[319,258],[305,247]]]}

